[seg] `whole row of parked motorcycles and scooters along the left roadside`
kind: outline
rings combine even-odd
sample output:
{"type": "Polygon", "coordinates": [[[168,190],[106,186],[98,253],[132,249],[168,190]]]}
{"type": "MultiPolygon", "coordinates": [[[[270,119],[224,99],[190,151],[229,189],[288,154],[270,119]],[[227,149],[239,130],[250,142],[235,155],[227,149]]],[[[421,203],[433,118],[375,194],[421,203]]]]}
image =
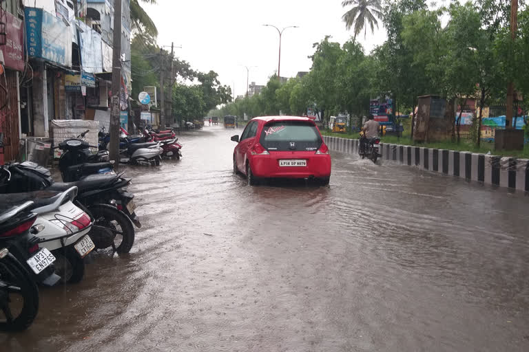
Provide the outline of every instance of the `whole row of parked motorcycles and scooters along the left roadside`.
{"type": "MultiPolygon", "coordinates": [[[[122,130],[121,162],[159,165],[161,156],[180,158],[174,132],[164,132],[132,137],[122,130]]],[[[127,190],[131,179],[114,173],[104,150],[108,134],[99,133],[94,154],[86,133],[56,146],[63,182],[33,162],[0,166],[0,330],[27,329],[39,309],[38,286],[78,283],[93,250],[122,254],[134,244],[134,225],[141,223],[127,190]]]]}

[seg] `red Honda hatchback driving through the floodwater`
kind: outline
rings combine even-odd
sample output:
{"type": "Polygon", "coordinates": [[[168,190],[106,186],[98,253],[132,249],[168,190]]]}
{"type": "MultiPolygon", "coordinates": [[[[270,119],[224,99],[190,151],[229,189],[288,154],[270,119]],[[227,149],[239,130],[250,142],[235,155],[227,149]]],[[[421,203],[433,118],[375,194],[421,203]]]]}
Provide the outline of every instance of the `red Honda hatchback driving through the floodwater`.
{"type": "Polygon", "coordinates": [[[260,179],[314,179],[329,184],[331,155],[313,120],[291,116],[253,118],[234,150],[234,173],[247,176],[248,184],[260,179]]]}

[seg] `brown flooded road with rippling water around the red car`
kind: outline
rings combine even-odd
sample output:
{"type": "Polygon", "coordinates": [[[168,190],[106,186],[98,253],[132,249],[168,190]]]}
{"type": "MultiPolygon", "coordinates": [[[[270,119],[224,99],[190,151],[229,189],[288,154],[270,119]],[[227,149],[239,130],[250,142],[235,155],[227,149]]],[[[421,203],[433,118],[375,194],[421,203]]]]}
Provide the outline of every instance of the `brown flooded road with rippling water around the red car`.
{"type": "Polygon", "coordinates": [[[249,187],[232,134],[129,168],[132,252],[1,351],[529,351],[529,197],[340,153],[330,187],[249,187]]]}

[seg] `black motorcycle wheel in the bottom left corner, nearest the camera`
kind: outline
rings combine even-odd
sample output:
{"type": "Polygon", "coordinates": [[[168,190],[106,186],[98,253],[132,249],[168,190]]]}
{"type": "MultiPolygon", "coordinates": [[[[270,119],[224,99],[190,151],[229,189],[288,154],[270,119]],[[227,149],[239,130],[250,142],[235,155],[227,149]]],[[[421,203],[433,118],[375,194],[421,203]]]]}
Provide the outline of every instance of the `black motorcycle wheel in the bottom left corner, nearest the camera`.
{"type": "Polygon", "coordinates": [[[0,330],[28,329],[39,311],[39,289],[13,256],[0,260],[0,330]]]}

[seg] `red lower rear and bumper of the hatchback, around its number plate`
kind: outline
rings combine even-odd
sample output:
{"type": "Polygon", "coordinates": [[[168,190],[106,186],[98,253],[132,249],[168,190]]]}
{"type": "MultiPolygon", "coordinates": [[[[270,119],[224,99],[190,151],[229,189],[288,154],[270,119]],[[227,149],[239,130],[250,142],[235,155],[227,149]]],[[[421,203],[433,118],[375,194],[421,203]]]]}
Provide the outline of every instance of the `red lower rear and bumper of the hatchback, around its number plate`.
{"type": "Polygon", "coordinates": [[[315,152],[271,152],[251,155],[253,175],[259,178],[324,178],[331,175],[331,156],[315,152]],[[305,159],[307,166],[279,166],[280,159],[305,159]]]}

